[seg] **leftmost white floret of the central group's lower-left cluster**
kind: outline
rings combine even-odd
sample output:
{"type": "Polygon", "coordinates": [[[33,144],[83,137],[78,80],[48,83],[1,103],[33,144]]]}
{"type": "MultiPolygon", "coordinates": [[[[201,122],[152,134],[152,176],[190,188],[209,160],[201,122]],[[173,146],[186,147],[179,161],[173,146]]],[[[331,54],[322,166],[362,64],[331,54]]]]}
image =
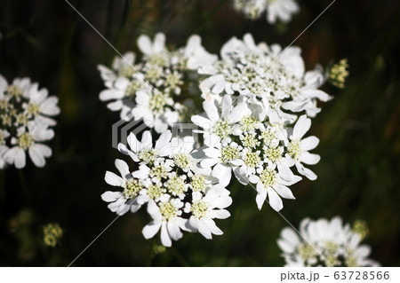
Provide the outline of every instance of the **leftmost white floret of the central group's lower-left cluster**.
{"type": "Polygon", "coordinates": [[[107,171],[104,177],[108,185],[119,186],[124,189],[123,192],[106,192],[101,194],[101,199],[107,202],[108,208],[116,212],[117,215],[124,215],[129,209],[132,212],[139,210],[141,205],[147,200],[144,196],[140,195],[143,185],[136,179],[133,179],[129,171],[128,164],[125,161],[116,160],[116,169],[118,169],[121,177],[115,173],[107,171]]]}

